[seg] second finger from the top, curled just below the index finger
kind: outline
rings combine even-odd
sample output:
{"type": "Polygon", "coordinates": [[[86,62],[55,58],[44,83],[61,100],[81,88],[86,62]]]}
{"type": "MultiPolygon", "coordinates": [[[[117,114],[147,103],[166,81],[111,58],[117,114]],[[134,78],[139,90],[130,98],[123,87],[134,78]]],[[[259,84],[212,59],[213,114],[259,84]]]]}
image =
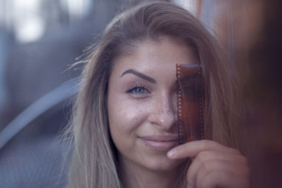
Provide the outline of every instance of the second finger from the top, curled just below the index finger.
{"type": "Polygon", "coordinates": [[[195,184],[197,174],[204,163],[209,161],[223,161],[224,163],[236,163],[240,165],[247,165],[247,159],[244,156],[234,155],[233,153],[226,153],[221,151],[202,151],[197,154],[197,157],[192,162],[188,169],[187,180],[191,184],[195,184]]]}

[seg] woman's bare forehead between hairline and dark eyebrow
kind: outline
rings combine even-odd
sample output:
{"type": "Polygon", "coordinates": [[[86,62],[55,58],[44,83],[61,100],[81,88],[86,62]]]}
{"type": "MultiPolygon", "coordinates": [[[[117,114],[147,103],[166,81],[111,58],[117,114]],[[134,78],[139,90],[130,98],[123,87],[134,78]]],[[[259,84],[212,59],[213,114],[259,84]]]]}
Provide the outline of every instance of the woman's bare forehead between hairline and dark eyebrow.
{"type": "Polygon", "coordinates": [[[140,42],[130,53],[119,56],[114,61],[114,72],[128,68],[144,70],[175,70],[176,63],[198,64],[198,59],[190,46],[178,44],[172,39],[161,39],[158,42],[146,40],[140,42]]]}

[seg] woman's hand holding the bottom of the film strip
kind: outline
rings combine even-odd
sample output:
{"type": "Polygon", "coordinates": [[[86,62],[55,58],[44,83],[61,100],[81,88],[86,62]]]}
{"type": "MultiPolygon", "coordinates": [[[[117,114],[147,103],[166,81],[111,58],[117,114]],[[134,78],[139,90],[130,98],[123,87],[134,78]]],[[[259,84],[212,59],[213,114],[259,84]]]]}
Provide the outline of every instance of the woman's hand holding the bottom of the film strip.
{"type": "Polygon", "coordinates": [[[248,188],[250,168],[240,151],[210,140],[188,142],[168,151],[168,158],[192,158],[189,188],[248,188]]]}

